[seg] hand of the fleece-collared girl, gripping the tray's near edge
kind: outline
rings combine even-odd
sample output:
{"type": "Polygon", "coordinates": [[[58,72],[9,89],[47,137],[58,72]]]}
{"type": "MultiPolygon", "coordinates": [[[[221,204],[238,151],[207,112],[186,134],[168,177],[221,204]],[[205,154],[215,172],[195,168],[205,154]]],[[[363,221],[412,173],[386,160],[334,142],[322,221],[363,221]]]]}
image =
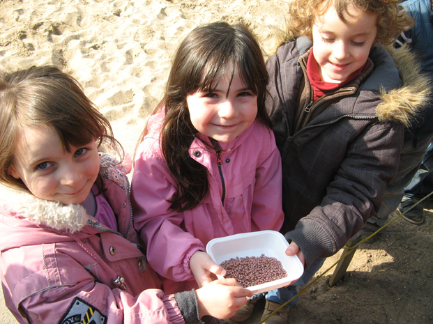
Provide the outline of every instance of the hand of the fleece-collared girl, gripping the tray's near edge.
{"type": "Polygon", "coordinates": [[[197,289],[200,316],[230,318],[252,296],[252,291],[242,288],[236,279],[219,279],[197,289]]]}

